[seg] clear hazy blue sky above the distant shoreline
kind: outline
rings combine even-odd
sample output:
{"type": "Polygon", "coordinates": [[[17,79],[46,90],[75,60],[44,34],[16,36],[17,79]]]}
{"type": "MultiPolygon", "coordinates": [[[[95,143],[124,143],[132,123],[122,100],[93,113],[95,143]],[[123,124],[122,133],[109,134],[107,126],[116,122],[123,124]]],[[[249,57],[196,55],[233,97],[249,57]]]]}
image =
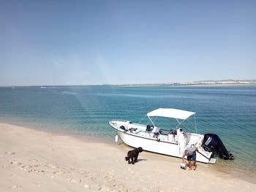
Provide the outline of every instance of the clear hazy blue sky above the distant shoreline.
{"type": "Polygon", "coordinates": [[[256,1],[1,1],[0,85],[255,79],[256,1]]]}

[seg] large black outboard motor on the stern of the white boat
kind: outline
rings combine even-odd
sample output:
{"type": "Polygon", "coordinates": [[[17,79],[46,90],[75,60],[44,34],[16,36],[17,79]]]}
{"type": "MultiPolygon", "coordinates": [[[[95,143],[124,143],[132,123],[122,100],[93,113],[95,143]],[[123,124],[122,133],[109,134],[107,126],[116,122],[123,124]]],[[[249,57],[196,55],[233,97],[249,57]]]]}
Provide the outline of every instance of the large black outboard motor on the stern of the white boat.
{"type": "Polygon", "coordinates": [[[217,134],[205,134],[203,137],[202,147],[206,151],[213,152],[213,155],[216,153],[219,154],[219,157],[225,160],[234,159],[234,155],[227,151],[225,145],[223,144],[222,140],[219,139],[217,134]]]}

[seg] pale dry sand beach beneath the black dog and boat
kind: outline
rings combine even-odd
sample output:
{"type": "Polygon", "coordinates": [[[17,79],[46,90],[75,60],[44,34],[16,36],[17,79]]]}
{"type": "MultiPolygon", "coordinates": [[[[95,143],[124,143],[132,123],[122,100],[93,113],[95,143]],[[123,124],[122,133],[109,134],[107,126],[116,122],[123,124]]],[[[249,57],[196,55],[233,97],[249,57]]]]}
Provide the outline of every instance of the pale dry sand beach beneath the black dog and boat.
{"type": "Polygon", "coordinates": [[[0,123],[0,191],[256,191],[207,164],[146,152],[127,164],[129,149],[0,123]]]}

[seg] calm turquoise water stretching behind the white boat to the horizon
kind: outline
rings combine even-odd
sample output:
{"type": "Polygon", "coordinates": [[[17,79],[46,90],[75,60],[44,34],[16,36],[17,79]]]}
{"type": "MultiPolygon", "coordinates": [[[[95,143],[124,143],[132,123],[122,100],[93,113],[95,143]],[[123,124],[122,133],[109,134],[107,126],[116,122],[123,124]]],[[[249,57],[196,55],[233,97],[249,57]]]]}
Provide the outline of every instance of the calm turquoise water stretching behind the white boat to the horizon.
{"type": "Polygon", "coordinates": [[[256,86],[0,88],[0,120],[102,139],[115,136],[109,120],[139,122],[159,107],[197,112],[197,131],[218,134],[235,155],[217,164],[255,172],[256,86]]]}

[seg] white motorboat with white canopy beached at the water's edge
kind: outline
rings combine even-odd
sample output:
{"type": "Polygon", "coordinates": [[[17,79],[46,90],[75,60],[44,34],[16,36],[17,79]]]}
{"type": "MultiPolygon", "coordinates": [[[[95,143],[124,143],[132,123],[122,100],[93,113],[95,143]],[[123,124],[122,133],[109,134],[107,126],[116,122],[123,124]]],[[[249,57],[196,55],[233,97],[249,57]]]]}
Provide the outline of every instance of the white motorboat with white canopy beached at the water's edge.
{"type": "MultiPolygon", "coordinates": [[[[197,134],[196,122],[195,133],[185,132],[185,128],[181,128],[181,125],[191,116],[195,117],[195,112],[159,108],[147,113],[151,125],[131,123],[129,120],[111,120],[109,124],[112,128],[116,129],[116,140],[119,137],[125,144],[131,147],[143,147],[143,150],[181,158],[187,147],[195,146],[197,147],[196,161],[215,164],[216,158],[212,157],[214,151],[206,150],[207,145],[211,145],[211,141],[214,140],[212,137],[214,134],[210,134],[211,137],[208,136],[207,138],[204,138],[205,135],[203,134],[197,134]],[[178,124],[173,130],[162,129],[154,125],[152,117],[176,119],[178,124]]],[[[214,136],[217,137],[217,135],[214,136]]],[[[220,139],[217,142],[222,144],[220,139]]],[[[225,148],[224,145],[223,147],[225,148]]],[[[208,148],[212,149],[213,146],[208,148]]],[[[226,153],[226,159],[233,159],[233,155],[225,149],[226,153]]]]}

